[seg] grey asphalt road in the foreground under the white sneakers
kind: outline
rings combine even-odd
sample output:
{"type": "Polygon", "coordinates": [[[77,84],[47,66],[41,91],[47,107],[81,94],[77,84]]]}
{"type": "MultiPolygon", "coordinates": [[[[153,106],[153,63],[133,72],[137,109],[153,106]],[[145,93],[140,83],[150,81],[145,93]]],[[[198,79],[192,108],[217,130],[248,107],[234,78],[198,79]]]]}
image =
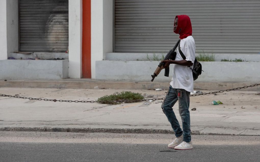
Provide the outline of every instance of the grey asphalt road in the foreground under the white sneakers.
{"type": "Polygon", "coordinates": [[[0,132],[0,161],[259,161],[259,136],[192,136],[192,150],[167,149],[172,135],[0,132]]]}

